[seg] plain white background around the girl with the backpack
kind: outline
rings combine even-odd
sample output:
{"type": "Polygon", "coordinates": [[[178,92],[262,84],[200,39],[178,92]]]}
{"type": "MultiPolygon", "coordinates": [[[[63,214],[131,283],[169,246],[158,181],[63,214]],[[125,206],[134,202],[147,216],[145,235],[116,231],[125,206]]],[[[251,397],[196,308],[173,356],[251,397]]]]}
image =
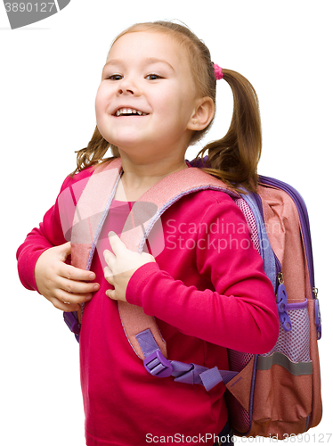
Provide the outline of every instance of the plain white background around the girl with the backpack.
{"type": "MultiPolygon", "coordinates": [[[[324,415],[310,434],[317,435],[311,443],[329,440],[319,435],[333,432],[331,5],[72,0],[45,21],[11,30],[0,4],[1,444],[85,444],[77,342],[61,311],[20,285],[15,252],[75,169],[74,151],[93,134],[94,95],[112,39],[134,22],[166,19],[185,22],[205,41],[214,62],[254,85],[264,134],[259,173],[288,182],[307,203],[323,322],[324,415]]],[[[217,106],[206,142],[223,136],[230,123],[231,91],[223,81],[217,106]]],[[[191,148],[188,158],[197,150],[191,148]]]]}

